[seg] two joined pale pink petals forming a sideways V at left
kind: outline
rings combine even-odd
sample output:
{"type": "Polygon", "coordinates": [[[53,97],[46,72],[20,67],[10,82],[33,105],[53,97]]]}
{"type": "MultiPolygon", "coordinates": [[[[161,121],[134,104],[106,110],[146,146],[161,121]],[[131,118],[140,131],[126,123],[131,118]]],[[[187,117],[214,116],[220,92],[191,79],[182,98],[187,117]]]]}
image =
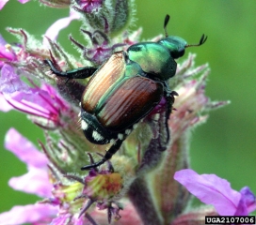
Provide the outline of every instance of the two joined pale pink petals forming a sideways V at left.
{"type": "Polygon", "coordinates": [[[27,165],[28,173],[12,177],[8,184],[11,188],[40,197],[50,197],[53,186],[47,173],[48,159],[17,130],[10,128],[5,139],[6,148],[27,165]]]}

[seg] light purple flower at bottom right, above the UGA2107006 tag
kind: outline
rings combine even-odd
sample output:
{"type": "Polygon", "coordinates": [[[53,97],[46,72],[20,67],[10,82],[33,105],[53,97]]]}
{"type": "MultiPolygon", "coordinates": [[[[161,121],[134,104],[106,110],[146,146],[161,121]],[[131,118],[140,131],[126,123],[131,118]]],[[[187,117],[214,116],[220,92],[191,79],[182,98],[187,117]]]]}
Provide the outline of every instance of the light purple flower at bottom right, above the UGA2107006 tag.
{"type": "Polygon", "coordinates": [[[233,190],[227,180],[216,174],[200,175],[186,169],[176,172],[174,179],[202,203],[213,204],[220,216],[248,216],[256,209],[255,196],[249,188],[233,190]]]}

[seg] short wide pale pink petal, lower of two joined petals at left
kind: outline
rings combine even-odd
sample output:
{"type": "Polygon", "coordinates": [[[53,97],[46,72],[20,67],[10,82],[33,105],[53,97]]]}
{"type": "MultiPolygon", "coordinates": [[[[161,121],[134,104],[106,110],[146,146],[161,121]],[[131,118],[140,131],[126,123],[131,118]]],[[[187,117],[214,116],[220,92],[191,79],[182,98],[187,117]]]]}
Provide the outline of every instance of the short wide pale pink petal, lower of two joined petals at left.
{"type": "Polygon", "coordinates": [[[13,189],[36,194],[42,198],[49,198],[52,196],[53,185],[49,181],[46,168],[42,170],[35,167],[29,167],[28,173],[25,173],[20,177],[12,177],[9,179],[8,185],[13,189]]]}

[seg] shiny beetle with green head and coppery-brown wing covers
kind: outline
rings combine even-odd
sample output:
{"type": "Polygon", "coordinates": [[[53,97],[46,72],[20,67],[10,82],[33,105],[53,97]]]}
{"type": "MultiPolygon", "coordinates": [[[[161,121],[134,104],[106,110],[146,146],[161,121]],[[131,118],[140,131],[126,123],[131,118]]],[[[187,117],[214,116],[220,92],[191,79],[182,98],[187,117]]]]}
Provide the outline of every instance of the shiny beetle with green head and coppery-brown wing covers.
{"type": "Polygon", "coordinates": [[[91,76],[81,98],[81,128],[90,143],[112,145],[101,160],[81,170],[96,168],[110,159],[136,124],[159,107],[163,99],[166,136],[159,150],[166,150],[168,118],[174,97],[178,95],[168,87],[168,80],[176,73],[175,59],[184,55],[185,48],[200,46],[207,39],[202,35],[199,44],[188,45],[182,37],[168,36],[168,21],[167,15],[164,22],[166,37],[157,42],[139,42],[127,51],[114,52],[99,68],[80,67],[63,72],[51,60],[44,60],[56,76],[68,80],[91,76]]]}

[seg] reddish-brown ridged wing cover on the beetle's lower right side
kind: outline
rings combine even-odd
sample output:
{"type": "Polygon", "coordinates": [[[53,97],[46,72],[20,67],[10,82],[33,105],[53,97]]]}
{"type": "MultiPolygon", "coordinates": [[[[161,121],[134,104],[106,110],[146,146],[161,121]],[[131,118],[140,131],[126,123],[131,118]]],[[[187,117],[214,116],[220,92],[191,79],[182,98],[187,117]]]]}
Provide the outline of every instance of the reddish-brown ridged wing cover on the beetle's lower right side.
{"type": "Polygon", "coordinates": [[[150,113],[163,93],[161,82],[141,76],[130,78],[107,98],[96,116],[110,131],[125,130],[150,113]]]}

